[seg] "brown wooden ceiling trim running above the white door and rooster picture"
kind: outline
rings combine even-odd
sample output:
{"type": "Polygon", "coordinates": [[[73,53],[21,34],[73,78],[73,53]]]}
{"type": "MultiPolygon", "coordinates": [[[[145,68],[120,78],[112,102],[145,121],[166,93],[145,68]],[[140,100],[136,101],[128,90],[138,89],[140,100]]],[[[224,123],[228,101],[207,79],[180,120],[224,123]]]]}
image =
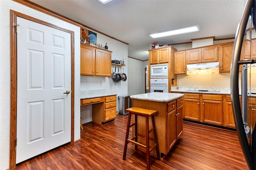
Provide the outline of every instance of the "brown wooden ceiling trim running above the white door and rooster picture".
{"type": "Polygon", "coordinates": [[[58,13],[52,11],[52,10],[49,10],[49,9],[47,9],[47,8],[44,8],[44,7],[42,7],[42,6],[38,5],[38,4],[35,4],[34,2],[31,2],[31,1],[28,1],[28,0],[13,0],[13,1],[18,2],[19,4],[22,4],[22,5],[28,6],[29,8],[32,8],[32,9],[34,9],[34,10],[37,10],[37,11],[43,12],[43,13],[45,13],[45,14],[48,14],[48,15],[50,15],[50,16],[53,16],[53,17],[55,17],[55,18],[58,18],[58,19],[60,19],[60,20],[63,20],[63,21],[65,21],[65,22],[68,22],[68,23],[70,23],[70,24],[74,24],[74,25],[79,26],[79,27],[88,28],[88,29],[90,29],[90,30],[92,30],[92,31],[94,31],[94,32],[97,32],[97,33],[99,33],[99,34],[102,34],[102,35],[104,35],[104,36],[107,36],[107,37],[109,37],[109,38],[112,38],[112,39],[114,39],[114,40],[116,40],[116,41],[125,43],[125,44],[127,44],[127,45],[129,44],[129,43],[123,42],[123,41],[121,41],[121,40],[118,40],[118,39],[116,39],[116,38],[114,38],[114,37],[108,36],[107,34],[104,34],[103,32],[100,32],[100,31],[98,31],[98,30],[95,30],[95,29],[93,29],[93,28],[90,28],[89,26],[86,26],[86,25],[84,25],[84,24],[81,24],[81,23],[79,23],[79,22],[76,22],[76,21],[74,21],[74,20],[72,20],[72,19],[70,19],[70,18],[67,18],[67,17],[65,17],[65,16],[63,16],[63,15],[61,15],[61,14],[58,14],[58,13]]]}

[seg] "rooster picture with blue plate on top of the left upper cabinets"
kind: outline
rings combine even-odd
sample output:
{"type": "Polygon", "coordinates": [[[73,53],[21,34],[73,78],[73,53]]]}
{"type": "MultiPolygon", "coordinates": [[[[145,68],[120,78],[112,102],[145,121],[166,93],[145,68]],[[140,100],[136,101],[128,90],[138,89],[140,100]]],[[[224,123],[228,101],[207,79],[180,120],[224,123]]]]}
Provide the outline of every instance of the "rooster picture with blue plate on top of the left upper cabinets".
{"type": "Polygon", "coordinates": [[[80,30],[80,41],[81,43],[97,45],[97,33],[87,30],[86,28],[82,28],[80,30]]]}

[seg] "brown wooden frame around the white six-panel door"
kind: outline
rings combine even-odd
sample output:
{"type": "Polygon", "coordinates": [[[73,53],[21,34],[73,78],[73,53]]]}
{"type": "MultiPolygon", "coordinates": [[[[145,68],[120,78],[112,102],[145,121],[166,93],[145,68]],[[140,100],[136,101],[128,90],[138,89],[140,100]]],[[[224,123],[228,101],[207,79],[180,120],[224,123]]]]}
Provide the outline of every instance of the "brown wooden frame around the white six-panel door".
{"type": "Polygon", "coordinates": [[[71,35],[71,143],[74,143],[74,32],[56,25],[38,20],[31,16],[10,10],[10,169],[16,166],[16,134],[17,134],[17,17],[37,22],[71,35]]]}

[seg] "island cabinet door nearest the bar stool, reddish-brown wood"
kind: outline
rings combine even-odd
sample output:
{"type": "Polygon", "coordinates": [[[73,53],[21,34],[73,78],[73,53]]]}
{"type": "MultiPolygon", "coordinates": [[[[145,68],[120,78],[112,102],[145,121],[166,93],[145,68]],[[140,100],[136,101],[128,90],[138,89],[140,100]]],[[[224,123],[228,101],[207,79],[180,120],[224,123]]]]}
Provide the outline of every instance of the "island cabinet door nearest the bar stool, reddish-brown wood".
{"type": "Polygon", "coordinates": [[[176,109],[167,114],[167,151],[176,142],[176,109]]]}

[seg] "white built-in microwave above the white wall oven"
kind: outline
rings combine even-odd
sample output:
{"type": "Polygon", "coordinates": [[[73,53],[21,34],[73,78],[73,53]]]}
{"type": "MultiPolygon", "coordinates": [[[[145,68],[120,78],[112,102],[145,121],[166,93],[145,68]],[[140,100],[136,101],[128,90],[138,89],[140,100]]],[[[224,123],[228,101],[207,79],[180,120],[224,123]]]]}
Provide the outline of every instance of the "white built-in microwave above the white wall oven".
{"type": "Polygon", "coordinates": [[[150,78],[168,78],[168,64],[150,65],[150,78]]]}

